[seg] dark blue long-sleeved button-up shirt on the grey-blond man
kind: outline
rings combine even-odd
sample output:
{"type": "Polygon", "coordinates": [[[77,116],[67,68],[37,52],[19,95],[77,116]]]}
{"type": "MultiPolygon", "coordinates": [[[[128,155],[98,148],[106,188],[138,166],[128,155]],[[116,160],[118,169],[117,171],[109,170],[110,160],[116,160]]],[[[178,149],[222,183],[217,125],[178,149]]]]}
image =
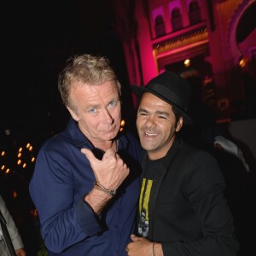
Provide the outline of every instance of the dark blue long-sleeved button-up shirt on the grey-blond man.
{"type": "Polygon", "coordinates": [[[118,139],[130,174],[101,216],[84,202],[96,177],[80,149],[93,146],[76,122],[70,119],[65,131],[40,148],[29,189],[48,255],[126,255],[137,213],[141,148],[130,133],[118,139]]]}

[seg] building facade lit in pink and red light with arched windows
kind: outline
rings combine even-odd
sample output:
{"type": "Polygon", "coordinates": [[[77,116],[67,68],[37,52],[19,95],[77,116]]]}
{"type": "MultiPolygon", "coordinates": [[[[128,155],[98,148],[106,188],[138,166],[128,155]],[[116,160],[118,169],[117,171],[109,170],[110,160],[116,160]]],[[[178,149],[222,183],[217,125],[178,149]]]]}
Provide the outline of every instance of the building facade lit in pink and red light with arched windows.
{"type": "Polygon", "coordinates": [[[243,75],[254,73],[254,82],[256,76],[255,70],[245,68],[255,68],[256,62],[255,0],[137,0],[115,5],[131,84],[143,86],[166,69],[181,73],[195,68],[218,119],[243,113],[243,75]]]}

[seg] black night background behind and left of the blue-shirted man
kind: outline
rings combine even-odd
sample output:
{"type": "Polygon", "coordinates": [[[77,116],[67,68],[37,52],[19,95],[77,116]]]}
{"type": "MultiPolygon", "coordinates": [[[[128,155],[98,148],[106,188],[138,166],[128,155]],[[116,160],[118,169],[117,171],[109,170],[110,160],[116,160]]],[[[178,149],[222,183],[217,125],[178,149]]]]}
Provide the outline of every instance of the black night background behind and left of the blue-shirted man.
{"type": "MultiPolygon", "coordinates": [[[[15,218],[27,256],[38,255],[37,218],[28,193],[34,164],[16,165],[17,150],[32,143],[33,155],[44,140],[61,131],[69,114],[61,103],[57,77],[71,55],[106,55],[123,84],[123,115],[131,117],[131,92],[111,1],[17,1],[1,8],[0,152],[10,168],[0,170],[0,193],[15,218]],[[7,134],[9,134],[7,136],[7,134]],[[17,192],[14,198],[13,191],[17,192]]],[[[131,117],[132,119],[132,117],[131,117]]],[[[23,159],[32,155],[24,149],[23,159]],[[24,152],[25,151],[25,152],[24,152]]],[[[44,253],[44,247],[43,251],[44,253]]],[[[41,255],[41,254],[40,254],[41,255]]],[[[44,254],[46,255],[46,254],[44,254]]]]}

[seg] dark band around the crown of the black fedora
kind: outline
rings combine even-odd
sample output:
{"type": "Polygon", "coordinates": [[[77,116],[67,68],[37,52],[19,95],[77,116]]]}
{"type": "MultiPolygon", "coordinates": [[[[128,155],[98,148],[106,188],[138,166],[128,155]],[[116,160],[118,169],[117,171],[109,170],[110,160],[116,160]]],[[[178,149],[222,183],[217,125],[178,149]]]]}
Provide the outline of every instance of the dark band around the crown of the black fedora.
{"type": "Polygon", "coordinates": [[[178,108],[183,108],[184,110],[187,109],[180,98],[175,93],[173,93],[172,90],[166,88],[166,86],[155,83],[148,84],[147,90],[151,90],[154,94],[157,94],[161,98],[166,99],[167,102],[172,102],[173,104],[177,105],[178,108]]]}

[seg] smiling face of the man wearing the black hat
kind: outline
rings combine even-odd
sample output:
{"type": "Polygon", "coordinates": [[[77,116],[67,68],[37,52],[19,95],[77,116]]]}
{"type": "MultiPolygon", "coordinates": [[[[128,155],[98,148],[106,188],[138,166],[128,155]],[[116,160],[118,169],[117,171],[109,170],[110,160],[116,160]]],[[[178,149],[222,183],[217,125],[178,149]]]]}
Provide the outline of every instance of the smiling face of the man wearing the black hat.
{"type": "Polygon", "coordinates": [[[183,125],[183,118],[176,123],[172,106],[159,97],[145,92],[137,111],[137,131],[142,147],[149,159],[164,157],[175,138],[175,132],[183,125]]]}

